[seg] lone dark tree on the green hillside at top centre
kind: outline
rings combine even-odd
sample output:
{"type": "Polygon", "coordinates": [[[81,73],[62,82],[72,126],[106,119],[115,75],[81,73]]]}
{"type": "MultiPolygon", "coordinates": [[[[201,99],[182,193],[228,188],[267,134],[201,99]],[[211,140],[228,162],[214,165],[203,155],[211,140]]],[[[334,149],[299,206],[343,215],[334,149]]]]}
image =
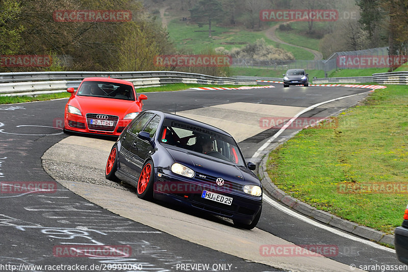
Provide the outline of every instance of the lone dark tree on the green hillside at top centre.
{"type": "Polygon", "coordinates": [[[208,23],[208,37],[211,38],[211,24],[222,19],[224,12],[222,5],[217,0],[200,0],[194,8],[190,9],[190,16],[199,26],[208,23]]]}

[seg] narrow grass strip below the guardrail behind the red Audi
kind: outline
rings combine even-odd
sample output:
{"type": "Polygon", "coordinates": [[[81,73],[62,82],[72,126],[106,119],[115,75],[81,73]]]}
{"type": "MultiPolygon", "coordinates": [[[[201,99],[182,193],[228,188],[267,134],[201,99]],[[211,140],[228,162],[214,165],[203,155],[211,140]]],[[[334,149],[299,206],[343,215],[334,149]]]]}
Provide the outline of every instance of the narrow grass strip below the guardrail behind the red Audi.
{"type": "MultiPolygon", "coordinates": [[[[158,91],[179,91],[186,90],[189,88],[196,87],[241,87],[248,85],[202,85],[202,84],[185,84],[185,83],[174,83],[167,84],[160,87],[147,87],[136,89],[137,93],[141,92],[158,92],[158,91]]],[[[249,85],[250,86],[250,85],[249,85]]],[[[40,94],[37,96],[0,96],[0,104],[14,104],[23,102],[33,102],[33,101],[45,101],[53,100],[58,98],[69,97],[71,94],[68,92],[59,92],[53,94],[40,94]]]]}

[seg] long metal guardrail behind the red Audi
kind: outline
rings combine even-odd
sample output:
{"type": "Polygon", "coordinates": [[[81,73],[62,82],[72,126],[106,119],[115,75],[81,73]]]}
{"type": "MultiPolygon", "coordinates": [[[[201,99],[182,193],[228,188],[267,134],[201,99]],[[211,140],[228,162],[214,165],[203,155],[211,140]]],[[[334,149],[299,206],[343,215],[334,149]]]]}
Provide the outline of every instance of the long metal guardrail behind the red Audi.
{"type": "Polygon", "coordinates": [[[199,73],[143,71],[143,72],[11,72],[0,73],[0,96],[35,95],[78,88],[84,78],[111,77],[124,79],[135,88],[157,87],[169,83],[187,84],[245,84],[256,85],[251,79],[222,78],[199,73]]]}

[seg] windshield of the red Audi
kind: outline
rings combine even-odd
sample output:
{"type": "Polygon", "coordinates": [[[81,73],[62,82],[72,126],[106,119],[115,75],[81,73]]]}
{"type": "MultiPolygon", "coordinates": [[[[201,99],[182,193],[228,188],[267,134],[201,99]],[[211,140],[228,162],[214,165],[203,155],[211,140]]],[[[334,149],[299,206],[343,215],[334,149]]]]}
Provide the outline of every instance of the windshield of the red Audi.
{"type": "Polygon", "coordinates": [[[135,100],[132,86],[101,81],[83,82],[81,87],[78,89],[77,95],[108,97],[121,100],[135,100]]]}

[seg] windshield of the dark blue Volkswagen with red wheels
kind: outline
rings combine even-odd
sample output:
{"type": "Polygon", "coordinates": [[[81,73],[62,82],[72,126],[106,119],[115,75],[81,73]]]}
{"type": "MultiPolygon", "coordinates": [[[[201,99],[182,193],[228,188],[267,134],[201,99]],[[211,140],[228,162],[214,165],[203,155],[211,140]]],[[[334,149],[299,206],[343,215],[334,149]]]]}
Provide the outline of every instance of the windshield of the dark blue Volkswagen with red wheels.
{"type": "Polygon", "coordinates": [[[188,123],[165,119],[159,141],[245,166],[244,159],[233,137],[188,123]]]}

